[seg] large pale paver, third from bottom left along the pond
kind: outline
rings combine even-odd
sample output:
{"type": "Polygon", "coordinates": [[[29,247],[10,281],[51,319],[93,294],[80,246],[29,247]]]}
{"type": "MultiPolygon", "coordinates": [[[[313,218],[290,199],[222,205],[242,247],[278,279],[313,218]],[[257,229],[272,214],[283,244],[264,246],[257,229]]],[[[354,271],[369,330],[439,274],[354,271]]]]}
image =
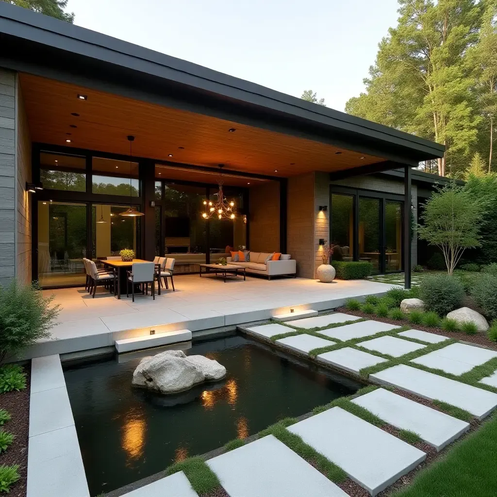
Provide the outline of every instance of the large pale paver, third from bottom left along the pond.
{"type": "Polygon", "coordinates": [[[304,419],[288,430],[342,468],[372,496],[426,458],[419,449],[339,407],[304,419]]]}

